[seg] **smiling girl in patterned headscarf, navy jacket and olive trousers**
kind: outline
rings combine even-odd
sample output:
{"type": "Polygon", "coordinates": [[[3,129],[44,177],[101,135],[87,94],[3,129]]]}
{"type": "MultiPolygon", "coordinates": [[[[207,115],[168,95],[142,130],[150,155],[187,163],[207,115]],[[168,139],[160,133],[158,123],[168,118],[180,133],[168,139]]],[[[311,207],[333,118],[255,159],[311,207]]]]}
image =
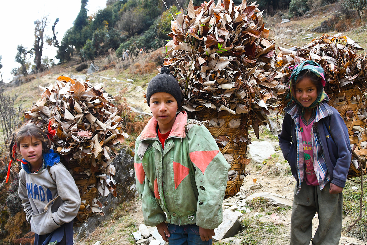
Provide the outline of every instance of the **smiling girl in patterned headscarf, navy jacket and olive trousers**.
{"type": "Polygon", "coordinates": [[[342,228],[342,190],[352,158],[348,129],[328,105],[323,68],[313,61],[294,67],[293,103],[279,134],[279,146],[297,180],[291,217],[291,245],[309,245],[312,219],[319,227],[313,245],[338,245],[342,228]]]}

